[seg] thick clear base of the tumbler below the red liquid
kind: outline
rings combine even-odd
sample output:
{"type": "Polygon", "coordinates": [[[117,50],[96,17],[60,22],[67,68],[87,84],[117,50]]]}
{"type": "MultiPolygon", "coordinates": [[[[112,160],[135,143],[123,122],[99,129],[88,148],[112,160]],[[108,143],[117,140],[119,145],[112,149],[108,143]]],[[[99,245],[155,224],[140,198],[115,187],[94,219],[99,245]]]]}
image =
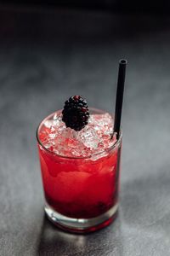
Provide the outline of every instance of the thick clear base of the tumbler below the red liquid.
{"type": "Polygon", "coordinates": [[[116,217],[116,212],[118,209],[118,204],[98,217],[95,218],[69,218],[59,212],[55,212],[52,207],[49,207],[46,203],[45,212],[49,220],[58,226],[62,230],[74,232],[74,233],[88,233],[95,230],[100,230],[114,220],[116,217]]]}

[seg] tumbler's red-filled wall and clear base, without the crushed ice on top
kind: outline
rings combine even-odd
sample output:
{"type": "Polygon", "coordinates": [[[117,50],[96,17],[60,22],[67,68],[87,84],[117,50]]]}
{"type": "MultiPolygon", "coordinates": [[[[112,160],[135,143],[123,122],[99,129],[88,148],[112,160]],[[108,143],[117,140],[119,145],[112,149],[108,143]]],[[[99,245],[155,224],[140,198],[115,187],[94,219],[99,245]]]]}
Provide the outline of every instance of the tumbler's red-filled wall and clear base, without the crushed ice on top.
{"type": "MultiPolygon", "coordinates": [[[[104,113],[90,109],[90,114],[104,113]]],[[[42,143],[44,124],[55,114],[43,119],[37,128],[45,212],[64,230],[99,230],[111,224],[118,209],[122,132],[116,143],[97,154],[59,155],[42,143]]]]}

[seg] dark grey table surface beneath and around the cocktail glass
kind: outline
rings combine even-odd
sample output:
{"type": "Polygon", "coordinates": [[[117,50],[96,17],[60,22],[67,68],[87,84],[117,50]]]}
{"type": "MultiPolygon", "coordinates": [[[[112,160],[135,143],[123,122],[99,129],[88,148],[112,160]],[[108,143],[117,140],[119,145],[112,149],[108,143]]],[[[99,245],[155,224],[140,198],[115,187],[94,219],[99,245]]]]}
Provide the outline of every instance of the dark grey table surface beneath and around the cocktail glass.
{"type": "Polygon", "coordinates": [[[0,11],[0,255],[170,255],[170,18],[0,11]],[[112,111],[126,57],[120,209],[86,236],[44,217],[39,121],[81,94],[112,111]]]}

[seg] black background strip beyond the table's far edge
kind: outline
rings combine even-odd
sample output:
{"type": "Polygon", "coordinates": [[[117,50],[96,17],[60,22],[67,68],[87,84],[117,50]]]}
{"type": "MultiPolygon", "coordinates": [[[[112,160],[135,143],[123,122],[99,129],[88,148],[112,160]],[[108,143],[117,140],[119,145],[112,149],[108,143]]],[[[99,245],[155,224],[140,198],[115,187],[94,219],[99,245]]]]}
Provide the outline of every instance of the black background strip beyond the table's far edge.
{"type": "Polygon", "coordinates": [[[62,7],[69,9],[105,9],[122,12],[149,12],[169,14],[169,0],[0,0],[4,5],[30,5],[39,7],[62,7]]]}

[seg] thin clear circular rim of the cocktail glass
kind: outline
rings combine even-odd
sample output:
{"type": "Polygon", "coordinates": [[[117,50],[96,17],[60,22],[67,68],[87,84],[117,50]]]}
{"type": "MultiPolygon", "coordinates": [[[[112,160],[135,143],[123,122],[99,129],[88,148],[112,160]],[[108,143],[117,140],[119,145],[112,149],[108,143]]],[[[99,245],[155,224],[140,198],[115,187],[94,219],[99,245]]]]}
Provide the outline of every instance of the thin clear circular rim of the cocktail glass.
{"type": "MultiPolygon", "coordinates": [[[[104,111],[104,110],[102,110],[102,109],[99,109],[99,108],[89,108],[89,109],[90,109],[90,110],[94,110],[94,111],[100,111],[100,112],[102,112],[102,113],[109,113],[109,112],[106,112],[106,111],[104,111]]],[[[52,154],[52,155],[54,155],[54,156],[56,155],[56,156],[58,156],[59,158],[63,158],[63,159],[77,159],[77,160],[78,160],[78,159],[90,159],[90,158],[92,158],[93,156],[96,156],[96,155],[99,155],[99,154],[101,154],[101,157],[102,157],[102,154],[109,153],[109,152],[111,152],[111,150],[113,150],[113,149],[119,147],[119,145],[120,145],[120,143],[121,143],[121,141],[122,141],[122,129],[121,129],[120,136],[119,136],[118,140],[116,141],[116,143],[114,143],[110,148],[106,148],[106,149],[104,149],[104,150],[102,150],[102,151],[99,151],[98,153],[90,154],[90,155],[88,155],[88,156],[65,156],[65,155],[57,154],[57,153],[54,153],[54,152],[50,151],[48,148],[45,148],[45,146],[44,146],[43,143],[41,142],[40,138],[38,137],[38,131],[39,131],[39,128],[40,128],[40,126],[42,125],[42,123],[44,122],[45,119],[48,119],[50,116],[54,115],[54,113],[59,112],[59,111],[61,111],[61,109],[56,110],[55,112],[48,114],[48,116],[45,117],[45,118],[43,118],[43,119],[40,121],[39,125],[37,125],[37,131],[36,131],[37,143],[38,143],[40,146],[42,146],[42,148],[43,148],[46,152],[48,152],[48,154],[52,154]]],[[[110,114],[111,114],[111,113],[110,113],[110,114]]],[[[111,115],[111,116],[112,116],[112,115],[111,115]]]]}

